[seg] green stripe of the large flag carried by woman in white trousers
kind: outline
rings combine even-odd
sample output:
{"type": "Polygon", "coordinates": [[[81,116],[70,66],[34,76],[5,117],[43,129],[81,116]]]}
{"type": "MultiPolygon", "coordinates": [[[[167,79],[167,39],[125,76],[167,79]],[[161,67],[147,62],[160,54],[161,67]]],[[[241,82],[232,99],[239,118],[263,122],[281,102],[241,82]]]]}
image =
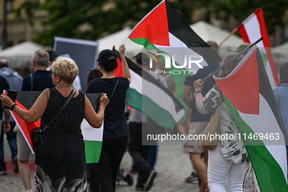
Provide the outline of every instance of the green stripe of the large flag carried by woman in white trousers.
{"type": "Polygon", "coordinates": [[[269,153],[269,150],[261,140],[258,139],[250,141],[250,139],[247,139],[247,136],[250,133],[252,135],[254,134],[253,130],[240,117],[237,109],[232,105],[232,103],[225,96],[224,98],[240,133],[246,133],[246,140],[243,141],[250,159],[253,159],[251,164],[253,166],[260,191],[287,192],[288,185],[283,170],[278,162],[269,153]]]}

